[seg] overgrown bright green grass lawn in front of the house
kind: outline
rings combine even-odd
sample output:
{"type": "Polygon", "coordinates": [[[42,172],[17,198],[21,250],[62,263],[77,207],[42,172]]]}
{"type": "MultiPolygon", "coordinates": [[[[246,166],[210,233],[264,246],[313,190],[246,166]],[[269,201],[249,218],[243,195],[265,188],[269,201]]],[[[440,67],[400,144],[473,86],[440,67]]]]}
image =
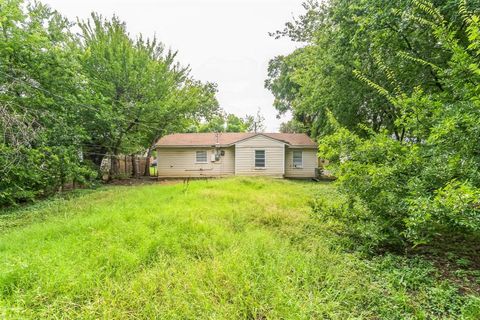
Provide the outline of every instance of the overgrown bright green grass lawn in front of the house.
{"type": "Polygon", "coordinates": [[[311,214],[332,184],[105,187],[0,215],[0,318],[478,319],[430,263],[362,258],[311,214]]]}

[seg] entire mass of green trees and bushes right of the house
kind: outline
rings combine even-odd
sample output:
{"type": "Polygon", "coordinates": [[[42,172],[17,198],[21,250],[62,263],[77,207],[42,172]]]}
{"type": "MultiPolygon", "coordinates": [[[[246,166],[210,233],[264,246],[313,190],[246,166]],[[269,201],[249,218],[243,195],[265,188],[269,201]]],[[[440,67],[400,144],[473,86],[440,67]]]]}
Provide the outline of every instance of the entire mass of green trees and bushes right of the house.
{"type": "Polygon", "coordinates": [[[479,5],[333,0],[307,46],[271,62],[277,110],[319,137],[342,215],[376,225],[366,247],[480,229],[479,5]]]}

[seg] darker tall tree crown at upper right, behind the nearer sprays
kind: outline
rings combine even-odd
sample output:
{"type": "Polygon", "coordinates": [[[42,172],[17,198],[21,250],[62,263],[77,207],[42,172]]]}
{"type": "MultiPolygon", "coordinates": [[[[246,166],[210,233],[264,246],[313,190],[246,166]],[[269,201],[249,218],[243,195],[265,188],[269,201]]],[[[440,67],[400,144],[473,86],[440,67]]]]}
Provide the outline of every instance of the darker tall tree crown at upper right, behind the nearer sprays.
{"type": "MultiPolygon", "coordinates": [[[[445,16],[459,44],[465,45],[469,36],[459,2],[435,1],[439,9],[434,18],[438,12],[445,16]]],[[[471,0],[465,10],[479,6],[471,0]]],[[[270,62],[266,87],[275,96],[275,108],[280,114],[291,111],[313,137],[332,133],[330,110],[361,137],[369,132],[359,124],[374,132],[387,130],[401,140],[397,106],[385,93],[411,95],[418,86],[426,94],[444,89],[439,68],[448,66],[451,51],[426,31],[431,27],[426,23],[429,11],[417,10],[410,0],[307,1],[304,7],[305,14],[275,34],[306,43],[270,62]],[[365,85],[362,77],[377,87],[365,85]],[[380,88],[384,94],[378,94],[380,88]]]]}

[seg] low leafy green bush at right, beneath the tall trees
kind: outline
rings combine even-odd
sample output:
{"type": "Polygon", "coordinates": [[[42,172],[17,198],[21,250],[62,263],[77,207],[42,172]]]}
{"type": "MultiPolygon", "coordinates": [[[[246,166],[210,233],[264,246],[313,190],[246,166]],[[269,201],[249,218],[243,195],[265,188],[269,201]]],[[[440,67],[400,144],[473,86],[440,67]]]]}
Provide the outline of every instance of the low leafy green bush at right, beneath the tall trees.
{"type": "Polygon", "coordinates": [[[433,148],[439,149],[402,143],[384,133],[360,139],[340,129],[323,140],[320,153],[337,159],[331,169],[343,203],[332,208],[318,199],[314,210],[345,221],[348,233],[367,247],[404,247],[446,233],[478,233],[480,180],[468,174],[478,158],[462,154],[468,161],[457,170],[459,164],[443,161],[446,155],[440,151],[453,157],[461,151],[435,150],[434,157],[427,156],[433,148]]]}

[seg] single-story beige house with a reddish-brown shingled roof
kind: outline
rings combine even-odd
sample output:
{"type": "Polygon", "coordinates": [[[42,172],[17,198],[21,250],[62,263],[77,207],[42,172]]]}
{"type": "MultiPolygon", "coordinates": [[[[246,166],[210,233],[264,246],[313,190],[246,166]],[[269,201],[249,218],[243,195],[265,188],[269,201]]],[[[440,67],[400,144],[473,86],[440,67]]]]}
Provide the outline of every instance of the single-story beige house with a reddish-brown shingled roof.
{"type": "Polygon", "coordinates": [[[180,133],[158,140],[160,178],[314,178],[317,144],[297,133],[180,133]]]}

